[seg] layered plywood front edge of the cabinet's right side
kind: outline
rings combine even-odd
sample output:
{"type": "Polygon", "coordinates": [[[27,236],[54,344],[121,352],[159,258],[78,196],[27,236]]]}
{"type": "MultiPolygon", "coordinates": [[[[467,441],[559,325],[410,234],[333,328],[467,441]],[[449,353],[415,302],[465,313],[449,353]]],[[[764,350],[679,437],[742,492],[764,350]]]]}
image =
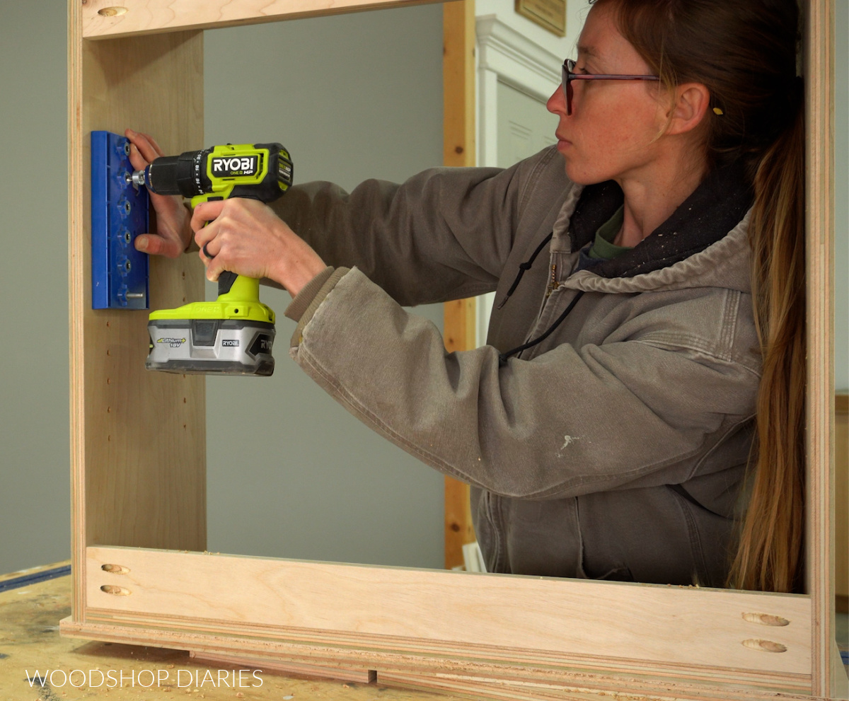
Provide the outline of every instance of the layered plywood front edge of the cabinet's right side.
{"type": "Polygon", "coordinates": [[[835,3],[810,0],[807,118],[807,576],[812,598],[812,693],[836,695],[834,472],[835,3]]]}

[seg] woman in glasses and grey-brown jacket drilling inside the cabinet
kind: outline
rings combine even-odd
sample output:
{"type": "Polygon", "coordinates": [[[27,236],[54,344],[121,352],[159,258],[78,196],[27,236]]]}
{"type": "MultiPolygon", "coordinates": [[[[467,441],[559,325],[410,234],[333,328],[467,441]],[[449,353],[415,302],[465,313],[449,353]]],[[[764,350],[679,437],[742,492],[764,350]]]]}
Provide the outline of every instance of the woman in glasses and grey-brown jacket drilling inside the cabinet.
{"type": "MultiPolygon", "coordinates": [[[[796,27],[795,0],[597,0],[548,100],[556,148],[350,195],[311,183],[274,210],[206,203],[191,229],[207,277],[290,291],[295,362],[472,485],[489,571],[722,586],[734,560],[734,586],[792,591],[796,27]],[[490,290],[475,351],[447,355],[400,306],[490,290]]],[[[158,154],[127,136],[134,166],[158,154]]],[[[155,206],[159,235],[137,246],[177,255],[187,216],[155,206]]]]}

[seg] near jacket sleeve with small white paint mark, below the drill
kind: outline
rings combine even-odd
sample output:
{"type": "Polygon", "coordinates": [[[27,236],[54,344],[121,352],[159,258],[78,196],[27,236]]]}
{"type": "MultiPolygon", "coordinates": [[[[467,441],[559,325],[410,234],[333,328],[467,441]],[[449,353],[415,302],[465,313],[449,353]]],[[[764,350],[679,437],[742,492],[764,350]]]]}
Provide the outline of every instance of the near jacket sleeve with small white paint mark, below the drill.
{"type": "Polygon", "coordinates": [[[679,484],[729,416],[752,412],[750,367],[651,333],[499,367],[492,346],[447,353],[432,323],[356,268],[328,286],[295,331],[295,362],[396,445],[503,496],[679,484]]]}

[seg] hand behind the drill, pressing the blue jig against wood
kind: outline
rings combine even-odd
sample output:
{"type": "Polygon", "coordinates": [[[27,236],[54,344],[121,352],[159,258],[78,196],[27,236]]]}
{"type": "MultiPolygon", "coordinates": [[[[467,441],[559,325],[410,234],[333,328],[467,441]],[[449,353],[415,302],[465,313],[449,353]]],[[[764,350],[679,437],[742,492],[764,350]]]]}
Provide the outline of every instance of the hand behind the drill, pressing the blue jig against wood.
{"type": "MultiPolygon", "coordinates": [[[[152,160],[165,154],[154,137],[127,129],[130,140],[130,163],[137,171],[143,171],[152,160]]],[[[148,191],[150,203],[156,214],[156,233],[142,233],[136,237],[136,250],[151,255],[177,258],[192,241],[192,230],[188,226],[191,214],[177,195],[162,195],[148,191]]]]}

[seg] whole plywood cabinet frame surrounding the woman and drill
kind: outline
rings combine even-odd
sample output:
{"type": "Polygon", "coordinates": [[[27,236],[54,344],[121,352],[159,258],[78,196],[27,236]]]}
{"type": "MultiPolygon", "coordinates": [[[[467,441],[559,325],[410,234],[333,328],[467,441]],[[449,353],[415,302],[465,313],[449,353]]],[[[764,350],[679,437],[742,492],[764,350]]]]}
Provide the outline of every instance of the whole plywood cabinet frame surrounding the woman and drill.
{"type": "MultiPolygon", "coordinates": [[[[203,380],[145,373],[147,318],[90,304],[88,134],[203,137],[213,26],[396,0],[103,0],[69,5],[74,598],[68,636],[377,670],[379,680],[576,698],[836,694],[833,485],[834,0],[805,4],[806,595],[366,567],[205,552],[203,380]],[[786,621],[787,625],[767,625],[786,621]],[[780,650],[784,652],[770,652],[780,650]],[[522,691],[524,689],[524,691],[522,691]]],[[[151,306],[199,299],[199,261],[151,263],[151,306]]]]}

